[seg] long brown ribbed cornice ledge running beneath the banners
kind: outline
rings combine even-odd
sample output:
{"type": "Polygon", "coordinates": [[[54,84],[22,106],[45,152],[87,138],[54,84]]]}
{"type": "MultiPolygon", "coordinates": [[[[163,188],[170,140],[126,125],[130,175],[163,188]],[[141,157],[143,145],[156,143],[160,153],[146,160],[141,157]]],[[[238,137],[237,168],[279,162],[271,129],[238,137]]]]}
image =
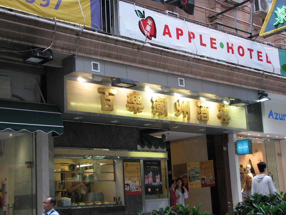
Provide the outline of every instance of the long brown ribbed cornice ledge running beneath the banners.
{"type": "MultiPolygon", "coordinates": [[[[35,17],[0,10],[0,40],[31,46],[51,44],[55,23],[35,17]],[[44,37],[43,37],[44,35],[44,37]]],[[[53,50],[75,54],[79,28],[57,24],[53,50]]],[[[202,60],[171,50],[85,30],[80,38],[78,55],[153,69],[175,75],[215,81],[250,89],[260,89],[262,73],[251,69],[202,60]]],[[[267,75],[265,76],[267,77],[267,75]]],[[[273,75],[263,81],[262,89],[286,95],[286,79],[273,75]]]]}

